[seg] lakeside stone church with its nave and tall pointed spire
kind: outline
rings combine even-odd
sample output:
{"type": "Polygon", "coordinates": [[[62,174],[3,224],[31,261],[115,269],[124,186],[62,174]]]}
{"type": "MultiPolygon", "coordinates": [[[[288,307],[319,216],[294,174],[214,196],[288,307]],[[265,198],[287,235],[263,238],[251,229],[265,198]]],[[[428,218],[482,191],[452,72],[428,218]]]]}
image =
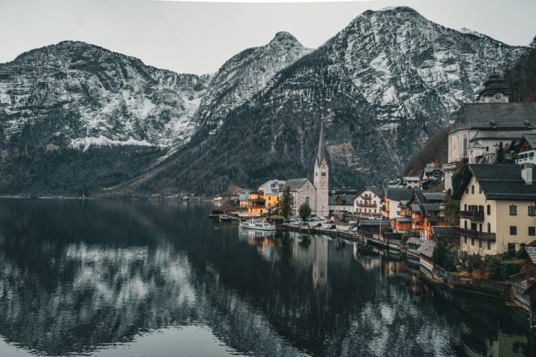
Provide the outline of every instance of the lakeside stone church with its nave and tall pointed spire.
{"type": "Polygon", "coordinates": [[[324,119],[320,122],[320,139],[315,158],[313,183],[309,179],[289,179],[285,187],[289,187],[294,198],[293,216],[299,216],[300,205],[309,204],[311,214],[327,217],[329,168],[326,159],[326,147],[324,144],[324,119]]]}

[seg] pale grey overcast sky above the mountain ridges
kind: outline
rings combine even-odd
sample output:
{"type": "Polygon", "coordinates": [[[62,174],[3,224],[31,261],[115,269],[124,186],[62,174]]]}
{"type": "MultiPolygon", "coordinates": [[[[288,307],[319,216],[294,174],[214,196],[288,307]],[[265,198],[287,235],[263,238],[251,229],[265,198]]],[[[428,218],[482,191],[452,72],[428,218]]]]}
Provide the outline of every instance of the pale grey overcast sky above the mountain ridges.
{"type": "Polygon", "coordinates": [[[536,35],[536,0],[195,3],[155,0],[0,0],[0,62],[64,40],[85,41],[179,73],[212,73],[278,31],[316,48],[365,10],[407,5],[427,19],[509,45],[536,35]]]}

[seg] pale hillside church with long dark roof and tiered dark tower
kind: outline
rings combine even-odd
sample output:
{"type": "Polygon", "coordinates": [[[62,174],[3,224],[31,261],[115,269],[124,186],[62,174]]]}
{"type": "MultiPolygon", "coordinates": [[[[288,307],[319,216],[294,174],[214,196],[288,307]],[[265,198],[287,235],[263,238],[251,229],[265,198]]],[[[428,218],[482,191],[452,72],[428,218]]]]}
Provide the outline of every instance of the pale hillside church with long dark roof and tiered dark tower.
{"type": "Polygon", "coordinates": [[[493,163],[495,151],[502,142],[506,149],[524,134],[536,133],[536,103],[509,102],[510,89],[504,78],[491,73],[476,103],[464,103],[449,132],[448,162],[445,189],[451,189],[451,179],[458,161],[493,163]]]}

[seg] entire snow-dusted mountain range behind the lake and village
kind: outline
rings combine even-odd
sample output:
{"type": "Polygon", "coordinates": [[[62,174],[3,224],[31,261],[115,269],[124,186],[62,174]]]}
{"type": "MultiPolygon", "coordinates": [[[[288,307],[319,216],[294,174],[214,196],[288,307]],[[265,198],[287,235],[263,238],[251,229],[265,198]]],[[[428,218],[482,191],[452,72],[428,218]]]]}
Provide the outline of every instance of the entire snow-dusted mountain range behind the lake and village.
{"type": "MultiPolygon", "coordinates": [[[[331,185],[357,188],[399,174],[461,102],[475,99],[492,67],[504,71],[524,51],[405,7],[366,11],[315,50],[279,32],[214,76],[155,69],[85,43],[43,47],[0,65],[0,170],[12,176],[9,185],[0,177],[0,192],[28,172],[45,177],[39,170],[61,181],[65,150],[98,146],[116,150],[87,154],[87,175],[104,177],[91,186],[107,192],[203,194],[310,176],[321,115],[331,185]],[[113,156],[132,144],[140,149],[125,149],[128,158],[113,156]],[[157,152],[163,147],[172,150],[157,152]],[[56,148],[65,150],[50,154],[51,168],[45,153],[56,148]],[[102,165],[118,163],[107,176],[102,165]]],[[[77,171],[69,184],[84,177],[77,171]]],[[[35,181],[27,179],[45,185],[35,181]]]]}

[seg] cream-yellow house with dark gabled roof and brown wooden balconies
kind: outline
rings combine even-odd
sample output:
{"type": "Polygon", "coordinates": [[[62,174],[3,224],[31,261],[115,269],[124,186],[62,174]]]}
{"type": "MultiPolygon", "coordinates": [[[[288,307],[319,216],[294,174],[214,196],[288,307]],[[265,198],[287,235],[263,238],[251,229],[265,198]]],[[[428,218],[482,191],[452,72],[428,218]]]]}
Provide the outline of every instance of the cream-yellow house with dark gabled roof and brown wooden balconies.
{"type": "Polygon", "coordinates": [[[533,165],[469,165],[454,198],[460,200],[460,249],[519,251],[536,240],[533,165]]]}

